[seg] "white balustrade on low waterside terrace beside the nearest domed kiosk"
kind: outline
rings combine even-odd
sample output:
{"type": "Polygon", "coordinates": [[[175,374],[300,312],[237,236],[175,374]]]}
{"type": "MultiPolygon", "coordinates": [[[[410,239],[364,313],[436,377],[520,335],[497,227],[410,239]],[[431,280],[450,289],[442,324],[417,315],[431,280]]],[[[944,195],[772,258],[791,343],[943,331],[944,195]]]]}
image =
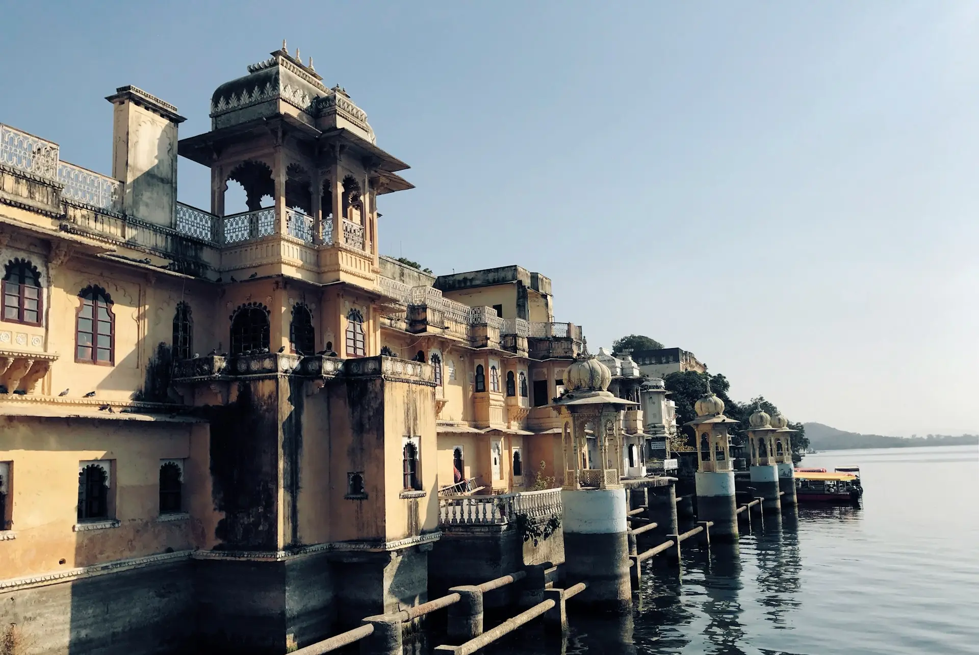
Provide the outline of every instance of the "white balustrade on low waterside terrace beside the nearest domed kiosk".
{"type": "Polygon", "coordinates": [[[562,513],[561,490],[523,491],[500,495],[466,495],[439,498],[439,523],[443,526],[505,525],[517,514],[541,519],[562,513]]]}

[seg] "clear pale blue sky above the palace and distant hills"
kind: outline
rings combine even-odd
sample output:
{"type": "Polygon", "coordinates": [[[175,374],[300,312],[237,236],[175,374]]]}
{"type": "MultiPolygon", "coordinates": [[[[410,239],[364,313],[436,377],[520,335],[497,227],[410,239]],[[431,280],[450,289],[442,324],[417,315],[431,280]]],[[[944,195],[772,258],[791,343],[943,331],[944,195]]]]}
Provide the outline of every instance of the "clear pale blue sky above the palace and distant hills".
{"type": "MultiPolygon", "coordinates": [[[[793,421],[979,432],[979,3],[14,2],[0,122],[111,172],[133,84],[186,137],[286,38],[417,188],[382,254],[520,264],[591,351],[693,351],[793,421]]],[[[181,160],[178,197],[207,209],[181,160]]]]}

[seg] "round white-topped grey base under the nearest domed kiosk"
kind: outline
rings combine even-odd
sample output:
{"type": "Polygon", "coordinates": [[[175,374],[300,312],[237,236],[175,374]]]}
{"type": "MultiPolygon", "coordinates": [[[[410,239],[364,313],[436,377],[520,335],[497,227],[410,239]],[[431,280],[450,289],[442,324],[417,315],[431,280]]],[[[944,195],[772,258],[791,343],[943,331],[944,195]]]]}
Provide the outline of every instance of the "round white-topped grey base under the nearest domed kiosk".
{"type": "Polygon", "coordinates": [[[630,611],[629,525],[626,490],[562,490],[565,579],[586,583],[576,602],[624,614],[630,611]]]}

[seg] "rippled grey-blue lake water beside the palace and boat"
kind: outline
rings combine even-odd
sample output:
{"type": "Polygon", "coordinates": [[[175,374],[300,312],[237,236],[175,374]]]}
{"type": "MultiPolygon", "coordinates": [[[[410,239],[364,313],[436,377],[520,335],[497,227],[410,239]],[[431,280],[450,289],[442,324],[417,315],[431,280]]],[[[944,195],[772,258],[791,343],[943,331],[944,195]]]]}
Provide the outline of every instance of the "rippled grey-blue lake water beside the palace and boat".
{"type": "Polygon", "coordinates": [[[756,520],[736,553],[685,550],[679,577],[653,558],[632,617],[572,615],[567,639],[531,625],[481,652],[979,653],[979,448],[836,450],[803,463],[859,465],[862,507],[756,520]]]}

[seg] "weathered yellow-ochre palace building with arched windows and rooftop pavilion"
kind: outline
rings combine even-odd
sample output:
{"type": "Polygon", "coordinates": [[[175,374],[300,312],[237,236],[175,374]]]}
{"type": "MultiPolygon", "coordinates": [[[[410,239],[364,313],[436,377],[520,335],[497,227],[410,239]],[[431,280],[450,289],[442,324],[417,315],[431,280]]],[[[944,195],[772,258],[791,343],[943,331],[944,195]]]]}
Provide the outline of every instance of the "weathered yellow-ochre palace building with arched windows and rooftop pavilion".
{"type": "MultiPolygon", "coordinates": [[[[440,491],[564,483],[582,328],[520,266],[379,255],[408,166],[344,89],[283,48],[204,134],[108,100],[111,175],[0,125],[0,628],[24,652],[286,652],[427,599],[440,491]],[[210,168],[208,211],[177,201],[178,156],[210,168]]],[[[641,477],[673,403],[601,358],[641,477]]]]}

